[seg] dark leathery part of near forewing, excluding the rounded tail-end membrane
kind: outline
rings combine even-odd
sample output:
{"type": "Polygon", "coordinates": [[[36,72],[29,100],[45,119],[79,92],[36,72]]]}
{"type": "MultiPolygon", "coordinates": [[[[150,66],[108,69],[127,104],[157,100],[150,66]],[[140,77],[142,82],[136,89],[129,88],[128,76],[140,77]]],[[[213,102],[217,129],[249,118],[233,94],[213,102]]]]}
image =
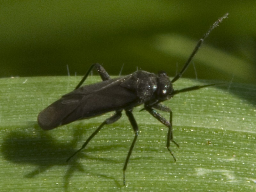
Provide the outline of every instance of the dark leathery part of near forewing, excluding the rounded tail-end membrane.
{"type": "Polygon", "coordinates": [[[122,81],[113,82],[84,96],[80,105],[62,120],[62,124],[122,110],[139,103],[136,92],[121,86],[121,83],[122,81]]]}

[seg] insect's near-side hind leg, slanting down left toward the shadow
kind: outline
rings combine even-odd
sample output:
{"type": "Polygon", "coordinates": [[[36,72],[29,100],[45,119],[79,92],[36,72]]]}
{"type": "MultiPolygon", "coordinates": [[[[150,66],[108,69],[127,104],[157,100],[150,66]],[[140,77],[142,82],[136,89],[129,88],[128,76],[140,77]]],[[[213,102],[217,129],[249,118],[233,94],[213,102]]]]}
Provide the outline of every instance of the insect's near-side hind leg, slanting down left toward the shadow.
{"type": "Polygon", "coordinates": [[[100,129],[105,125],[105,124],[112,124],[114,122],[116,122],[118,119],[120,119],[120,117],[122,116],[122,111],[116,111],[116,113],[109,117],[108,119],[106,119],[102,124],[100,124],[100,126],[91,134],[91,136],[85,141],[84,145],[78,149],[73,155],[71,155],[70,157],[68,157],[67,161],[68,162],[73,156],[75,156],[79,151],[81,151],[83,148],[86,147],[86,145],[90,142],[90,140],[92,140],[92,138],[100,131],[100,129]]]}

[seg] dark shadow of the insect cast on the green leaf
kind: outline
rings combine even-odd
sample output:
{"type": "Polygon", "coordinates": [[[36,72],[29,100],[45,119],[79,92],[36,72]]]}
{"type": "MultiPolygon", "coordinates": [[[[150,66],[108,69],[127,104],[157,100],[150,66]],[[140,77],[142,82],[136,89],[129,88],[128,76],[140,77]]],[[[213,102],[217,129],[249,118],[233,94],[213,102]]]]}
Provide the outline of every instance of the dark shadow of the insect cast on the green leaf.
{"type": "MultiPolygon", "coordinates": [[[[70,178],[73,176],[74,172],[88,172],[87,170],[84,170],[84,166],[76,159],[73,160],[72,164],[68,164],[66,162],[67,156],[76,151],[74,148],[77,146],[79,138],[81,138],[79,136],[83,133],[84,128],[78,127],[77,129],[74,129],[72,137],[73,140],[69,143],[58,142],[58,140],[53,138],[49,133],[41,131],[37,124],[34,125],[36,133],[31,133],[31,128],[29,128],[29,132],[24,132],[28,127],[20,127],[19,129],[21,131],[12,131],[4,138],[0,150],[3,158],[9,162],[36,166],[33,171],[25,174],[24,178],[34,178],[39,174],[43,174],[53,166],[68,166],[69,168],[63,179],[64,189],[67,190],[70,178]]],[[[102,150],[104,150],[104,148],[102,150]]],[[[82,153],[79,154],[79,156],[83,156],[86,159],[97,159],[104,162],[115,161],[82,153]]],[[[109,177],[105,174],[94,172],[90,172],[90,174],[107,178],[114,181],[117,186],[120,185],[115,177],[109,177]]]]}

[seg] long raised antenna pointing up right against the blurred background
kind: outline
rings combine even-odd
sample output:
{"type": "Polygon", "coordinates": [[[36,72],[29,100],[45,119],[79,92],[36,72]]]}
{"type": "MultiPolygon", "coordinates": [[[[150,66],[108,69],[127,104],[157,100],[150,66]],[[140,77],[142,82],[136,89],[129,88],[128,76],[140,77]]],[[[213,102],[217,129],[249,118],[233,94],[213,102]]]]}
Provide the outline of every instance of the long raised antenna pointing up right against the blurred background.
{"type": "Polygon", "coordinates": [[[215,21],[215,23],[213,23],[213,25],[209,28],[209,30],[207,31],[207,33],[204,34],[204,36],[197,42],[195,49],[193,50],[193,52],[191,53],[191,55],[189,56],[187,62],[185,63],[184,67],[181,69],[180,73],[178,73],[173,79],[172,79],[172,83],[174,83],[175,81],[177,81],[182,74],[184,73],[184,71],[188,68],[188,65],[190,64],[191,60],[193,59],[193,57],[196,55],[196,52],[198,51],[198,49],[200,48],[201,44],[204,42],[204,39],[211,33],[211,31],[218,27],[219,23],[228,17],[228,13],[226,13],[225,15],[223,15],[222,17],[220,17],[217,21],[215,21]]]}

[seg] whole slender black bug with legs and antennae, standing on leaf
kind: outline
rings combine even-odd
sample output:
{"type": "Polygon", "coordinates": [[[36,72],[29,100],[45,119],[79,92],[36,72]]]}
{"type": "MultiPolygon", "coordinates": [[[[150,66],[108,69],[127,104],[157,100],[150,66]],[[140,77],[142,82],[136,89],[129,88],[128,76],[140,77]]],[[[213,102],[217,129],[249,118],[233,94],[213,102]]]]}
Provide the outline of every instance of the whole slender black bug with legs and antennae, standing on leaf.
{"type": "MultiPolygon", "coordinates": [[[[208,84],[203,86],[193,86],[181,90],[173,90],[172,88],[172,83],[177,81],[188,68],[190,61],[195,56],[204,39],[223,19],[227,18],[227,16],[228,13],[219,18],[208,32],[204,34],[196,44],[194,51],[188,58],[180,73],[178,73],[171,81],[163,71],[156,75],[142,70],[136,71],[127,76],[111,79],[100,64],[93,64],[74,91],[63,95],[60,100],[55,101],[39,113],[37,119],[39,126],[44,130],[51,130],[60,125],[68,124],[76,120],[91,118],[110,111],[116,111],[113,116],[100,124],[100,126],[85,141],[84,145],[76,151],[76,153],[78,153],[86,147],[89,141],[92,140],[92,138],[105,124],[112,124],[116,122],[122,116],[122,111],[124,110],[135,133],[123,168],[125,185],[125,171],[139,134],[139,128],[132,114],[132,109],[144,104],[144,108],[142,110],[148,111],[153,117],[168,127],[166,147],[174,158],[174,161],[176,161],[170,149],[171,141],[179,147],[179,145],[173,140],[172,135],[172,111],[170,108],[162,105],[161,102],[171,99],[174,95],[180,92],[188,92],[214,85],[208,84]],[[102,82],[81,87],[93,68],[97,69],[102,82]],[[169,112],[170,120],[167,121],[163,116],[156,112],[155,109],[169,112]]],[[[70,156],[68,160],[75,156],[76,153],[70,156]]]]}

